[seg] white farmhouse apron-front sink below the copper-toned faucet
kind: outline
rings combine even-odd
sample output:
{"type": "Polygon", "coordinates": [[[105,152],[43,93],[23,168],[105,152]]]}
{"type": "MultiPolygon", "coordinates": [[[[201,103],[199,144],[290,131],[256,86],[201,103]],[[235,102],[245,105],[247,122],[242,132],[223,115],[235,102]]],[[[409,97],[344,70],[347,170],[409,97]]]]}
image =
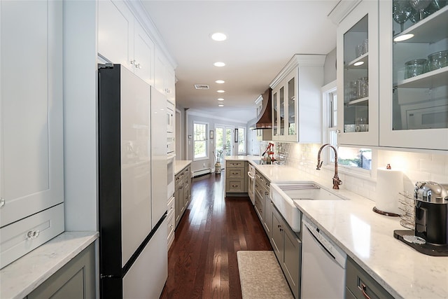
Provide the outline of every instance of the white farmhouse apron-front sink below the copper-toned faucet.
{"type": "Polygon", "coordinates": [[[315,183],[271,183],[269,195],[295,232],[300,232],[302,212],[295,207],[294,200],[342,200],[315,183]]]}

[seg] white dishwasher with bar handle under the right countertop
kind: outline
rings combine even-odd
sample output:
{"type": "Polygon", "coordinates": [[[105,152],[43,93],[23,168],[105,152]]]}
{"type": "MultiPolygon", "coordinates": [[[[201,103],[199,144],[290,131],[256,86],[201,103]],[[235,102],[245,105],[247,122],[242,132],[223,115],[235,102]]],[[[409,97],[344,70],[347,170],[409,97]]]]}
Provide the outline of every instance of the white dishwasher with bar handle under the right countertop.
{"type": "Polygon", "coordinates": [[[301,298],[344,298],[346,253],[309,218],[302,223],[301,298]]]}

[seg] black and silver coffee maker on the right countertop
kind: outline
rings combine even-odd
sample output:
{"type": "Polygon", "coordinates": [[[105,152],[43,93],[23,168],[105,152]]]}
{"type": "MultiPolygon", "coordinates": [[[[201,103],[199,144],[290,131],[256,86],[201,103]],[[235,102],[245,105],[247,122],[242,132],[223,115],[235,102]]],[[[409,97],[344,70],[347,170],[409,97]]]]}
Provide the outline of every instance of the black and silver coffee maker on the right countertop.
{"type": "Polygon", "coordinates": [[[418,181],[414,189],[415,235],[434,245],[448,244],[448,184],[418,181]]]}

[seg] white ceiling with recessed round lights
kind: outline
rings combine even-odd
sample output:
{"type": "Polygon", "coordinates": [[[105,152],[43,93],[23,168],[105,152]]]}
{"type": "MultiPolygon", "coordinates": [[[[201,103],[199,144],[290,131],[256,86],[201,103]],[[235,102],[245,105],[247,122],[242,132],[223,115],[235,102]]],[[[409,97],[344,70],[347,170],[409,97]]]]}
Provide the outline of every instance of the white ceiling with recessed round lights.
{"type": "Polygon", "coordinates": [[[177,104],[244,122],[256,117],[255,99],[295,53],[336,48],[336,25],[328,14],[338,2],[142,0],[177,63],[177,104]],[[213,41],[214,32],[228,39],[213,41]],[[214,67],[218,61],[226,66],[214,67]],[[196,90],[195,84],[210,89],[196,90]]]}

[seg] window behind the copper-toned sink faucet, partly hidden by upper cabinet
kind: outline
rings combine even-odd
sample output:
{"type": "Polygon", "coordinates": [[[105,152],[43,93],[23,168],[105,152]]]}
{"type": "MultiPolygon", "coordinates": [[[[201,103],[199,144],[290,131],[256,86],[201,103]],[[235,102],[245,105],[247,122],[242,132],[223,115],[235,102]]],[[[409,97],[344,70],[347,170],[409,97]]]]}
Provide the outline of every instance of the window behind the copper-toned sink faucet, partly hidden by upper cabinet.
{"type": "MultiPolygon", "coordinates": [[[[325,141],[337,148],[337,163],[351,169],[372,169],[372,150],[370,148],[347,148],[337,146],[337,92],[336,83],[323,88],[326,114],[325,141]]],[[[335,162],[335,153],[327,151],[327,161],[335,162]]]]}

